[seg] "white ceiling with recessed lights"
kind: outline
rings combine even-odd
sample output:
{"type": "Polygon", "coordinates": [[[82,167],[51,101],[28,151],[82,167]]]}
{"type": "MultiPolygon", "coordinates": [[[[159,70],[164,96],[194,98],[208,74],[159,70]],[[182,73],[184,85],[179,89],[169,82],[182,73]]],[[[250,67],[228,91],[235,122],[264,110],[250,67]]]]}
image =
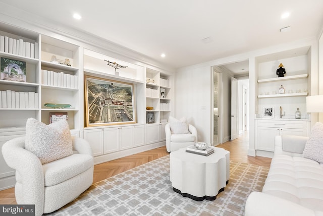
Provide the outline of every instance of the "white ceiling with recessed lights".
{"type": "MultiPolygon", "coordinates": [[[[323,27],[322,0],[0,0],[0,3],[30,13],[23,19],[33,17],[38,18],[35,22],[46,22],[48,26],[55,24],[56,28],[88,32],[173,68],[317,38],[323,27]],[[289,12],[290,17],[281,19],[284,12],[289,12]],[[73,13],[82,18],[75,20],[73,13]],[[291,31],[281,33],[280,29],[286,26],[291,31]],[[161,58],[161,53],[166,57],[161,58]]],[[[10,13],[19,17],[17,12],[10,13]]]]}

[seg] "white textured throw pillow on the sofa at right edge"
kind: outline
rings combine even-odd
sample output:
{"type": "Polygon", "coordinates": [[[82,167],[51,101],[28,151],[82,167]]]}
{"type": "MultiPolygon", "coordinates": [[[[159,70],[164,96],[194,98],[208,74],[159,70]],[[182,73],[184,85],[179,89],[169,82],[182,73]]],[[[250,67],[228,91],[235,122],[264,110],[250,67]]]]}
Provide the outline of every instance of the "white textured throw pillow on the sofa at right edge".
{"type": "Polygon", "coordinates": [[[305,144],[303,157],[323,163],[323,124],[316,122],[305,144]]]}

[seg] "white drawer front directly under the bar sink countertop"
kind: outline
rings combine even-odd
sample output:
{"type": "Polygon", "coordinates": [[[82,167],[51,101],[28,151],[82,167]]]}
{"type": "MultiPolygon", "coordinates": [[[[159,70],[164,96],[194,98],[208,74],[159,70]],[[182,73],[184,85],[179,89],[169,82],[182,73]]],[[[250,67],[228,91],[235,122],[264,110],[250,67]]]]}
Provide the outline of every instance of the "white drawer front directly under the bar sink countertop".
{"type": "Polygon", "coordinates": [[[258,120],[258,127],[270,128],[299,128],[306,129],[306,121],[293,121],[293,120],[258,120]]]}

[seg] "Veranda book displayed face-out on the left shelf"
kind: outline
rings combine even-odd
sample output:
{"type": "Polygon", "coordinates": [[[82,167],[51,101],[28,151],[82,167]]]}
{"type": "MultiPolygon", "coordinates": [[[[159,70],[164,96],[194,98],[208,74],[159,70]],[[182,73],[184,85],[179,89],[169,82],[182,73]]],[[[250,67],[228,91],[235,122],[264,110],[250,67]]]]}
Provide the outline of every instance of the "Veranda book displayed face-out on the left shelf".
{"type": "Polygon", "coordinates": [[[26,82],[26,62],[1,58],[0,79],[26,82]]]}

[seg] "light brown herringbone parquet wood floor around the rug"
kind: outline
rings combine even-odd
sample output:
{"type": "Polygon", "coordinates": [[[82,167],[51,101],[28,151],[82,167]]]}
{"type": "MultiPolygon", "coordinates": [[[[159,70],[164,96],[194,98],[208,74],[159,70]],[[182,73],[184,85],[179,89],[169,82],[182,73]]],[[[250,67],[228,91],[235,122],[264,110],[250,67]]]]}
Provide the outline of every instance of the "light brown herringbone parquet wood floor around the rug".
{"type": "MultiPolygon", "coordinates": [[[[249,143],[248,135],[249,133],[245,132],[244,134],[240,135],[238,139],[225,142],[223,144],[218,145],[217,147],[229,150],[231,160],[270,167],[270,163],[272,160],[271,158],[258,156],[252,157],[247,155],[249,143]]],[[[148,163],[149,161],[166,156],[168,154],[169,153],[166,151],[166,146],[163,146],[149,151],[141,152],[138,154],[95,165],[93,183],[123,173],[127,170],[143,165],[145,163],[148,163]]],[[[0,191],[0,204],[17,204],[15,199],[14,188],[0,191]]]]}

